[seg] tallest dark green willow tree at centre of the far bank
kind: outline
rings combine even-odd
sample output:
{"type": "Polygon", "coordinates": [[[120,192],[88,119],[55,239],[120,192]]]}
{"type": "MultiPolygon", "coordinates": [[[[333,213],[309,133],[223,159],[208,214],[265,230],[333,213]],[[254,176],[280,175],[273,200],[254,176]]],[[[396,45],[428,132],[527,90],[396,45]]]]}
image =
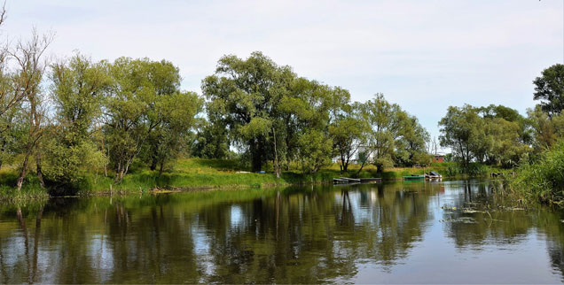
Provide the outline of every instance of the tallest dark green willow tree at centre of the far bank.
{"type": "Polygon", "coordinates": [[[294,77],[289,66],[255,51],[247,59],[220,58],[215,73],[202,81],[211,123],[229,129],[231,142],[250,156],[253,171],[260,171],[278,149],[278,104],[294,77]]]}

